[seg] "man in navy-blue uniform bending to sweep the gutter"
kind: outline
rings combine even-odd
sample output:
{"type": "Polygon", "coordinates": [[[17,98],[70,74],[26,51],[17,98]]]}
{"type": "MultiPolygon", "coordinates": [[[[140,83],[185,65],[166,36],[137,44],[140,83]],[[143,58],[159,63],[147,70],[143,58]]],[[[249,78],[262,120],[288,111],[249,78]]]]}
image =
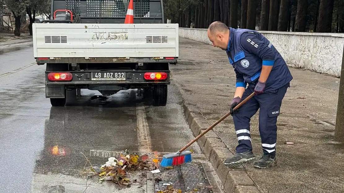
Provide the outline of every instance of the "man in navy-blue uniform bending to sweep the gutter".
{"type": "Polygon", "coordinates": [[[222,22],[213,22],[207,35],[214,47],[226,51],[236,74],[236,91],[230,105],[238,146],[236,154],[224,163],[229,167],[252,162],[250,119],[259,109],[259,132],[263,156],[254,167],[276,165],[277,117],[282,99],[293,79],[286,62],[276,48],[257,31],[234,29],[222,22]],[[247,87],[247,88],[246,88],[247,87]],[[238,110],[233,108],[247,96],[256,93],[238,110]]]}

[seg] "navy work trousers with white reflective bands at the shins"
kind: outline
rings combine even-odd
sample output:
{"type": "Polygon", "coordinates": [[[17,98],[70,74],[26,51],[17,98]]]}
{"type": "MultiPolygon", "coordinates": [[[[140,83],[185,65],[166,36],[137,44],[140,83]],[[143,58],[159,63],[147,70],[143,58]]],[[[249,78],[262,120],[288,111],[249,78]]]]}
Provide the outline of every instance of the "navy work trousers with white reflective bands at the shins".
{"type": "MultiPolygon", "coordinates": [[[[264,92],[255,95],[239,108],[239,111],[233,114],[233,122],[238,137],[238,146],[236,152],[246,152],[252,150],[250,135],[251,117],[259,109],[259,133],[261,146],[264,154],[276,153],[277,141],[277,117],[280,114],[280,107],[284,95],[287,92],[289,83],[279,89],[270,92],[264,92]]],[[[241,97],[244,100],[254,92],[255,85],[249,85],[241,97]]]]}

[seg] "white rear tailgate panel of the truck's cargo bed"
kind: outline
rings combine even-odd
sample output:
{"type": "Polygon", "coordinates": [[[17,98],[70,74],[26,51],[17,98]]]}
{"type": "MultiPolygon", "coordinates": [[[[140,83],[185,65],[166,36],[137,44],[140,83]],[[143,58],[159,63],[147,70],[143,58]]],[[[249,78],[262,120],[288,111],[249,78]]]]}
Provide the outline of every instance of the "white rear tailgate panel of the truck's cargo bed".
{"type": "Polygon", "coordinates": [[[33,23],[34,57],[179,57],[178,27],[178,24],[33,23]]]}

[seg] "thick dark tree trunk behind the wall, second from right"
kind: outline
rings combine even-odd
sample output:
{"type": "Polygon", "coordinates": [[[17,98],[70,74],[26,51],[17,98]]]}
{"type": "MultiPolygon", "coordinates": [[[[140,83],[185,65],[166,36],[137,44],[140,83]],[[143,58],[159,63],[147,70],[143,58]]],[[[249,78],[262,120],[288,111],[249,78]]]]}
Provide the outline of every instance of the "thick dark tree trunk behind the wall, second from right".
{"type": "Polygon", "coordinates": [[[305,32],[307,25],[307,0],[298,0],[295,32],[305,32]]]}

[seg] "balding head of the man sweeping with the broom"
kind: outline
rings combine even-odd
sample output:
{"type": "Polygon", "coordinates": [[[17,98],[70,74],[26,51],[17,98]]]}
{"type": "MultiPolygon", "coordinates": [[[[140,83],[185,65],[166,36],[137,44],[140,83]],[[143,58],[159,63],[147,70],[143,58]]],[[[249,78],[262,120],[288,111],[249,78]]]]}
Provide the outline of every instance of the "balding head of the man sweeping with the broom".
{"type": "Polygon", "coordinates": [[[229,28],[226,24],[216,21],[209,25],[207,35],[214,47],[226,50],[229,40],[229,28]]]}

